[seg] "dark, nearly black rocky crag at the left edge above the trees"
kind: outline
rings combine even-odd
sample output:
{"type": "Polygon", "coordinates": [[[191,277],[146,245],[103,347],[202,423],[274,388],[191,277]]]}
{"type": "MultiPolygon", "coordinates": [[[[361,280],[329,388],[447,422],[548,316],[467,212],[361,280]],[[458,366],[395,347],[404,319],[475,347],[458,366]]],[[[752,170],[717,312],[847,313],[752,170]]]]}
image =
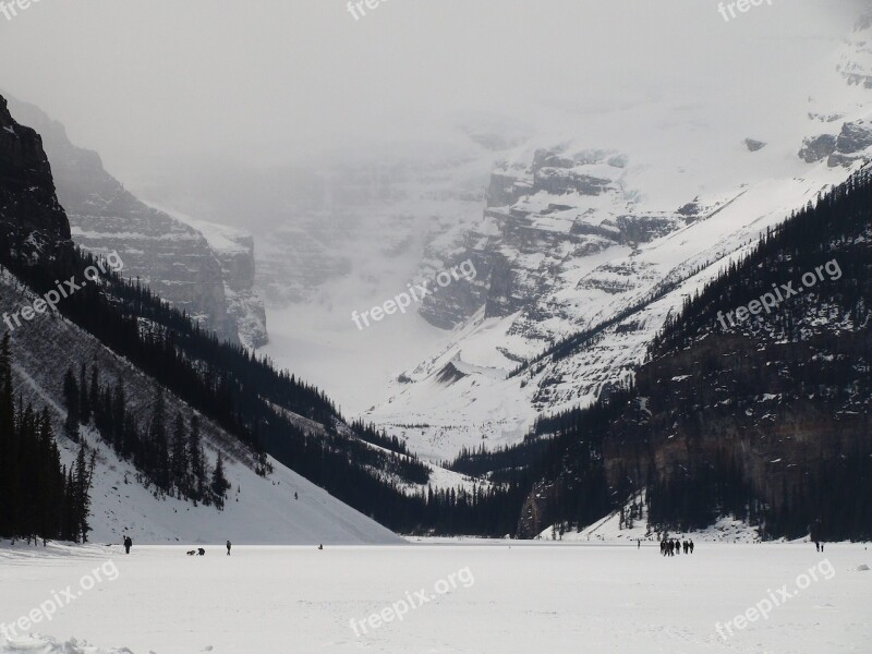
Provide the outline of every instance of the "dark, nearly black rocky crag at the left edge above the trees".
{"type": "Polygon", "coordinates": [[[39,135],[12,118],[0,96],[0,233],[26,255],[70,239],[39,135]]]}

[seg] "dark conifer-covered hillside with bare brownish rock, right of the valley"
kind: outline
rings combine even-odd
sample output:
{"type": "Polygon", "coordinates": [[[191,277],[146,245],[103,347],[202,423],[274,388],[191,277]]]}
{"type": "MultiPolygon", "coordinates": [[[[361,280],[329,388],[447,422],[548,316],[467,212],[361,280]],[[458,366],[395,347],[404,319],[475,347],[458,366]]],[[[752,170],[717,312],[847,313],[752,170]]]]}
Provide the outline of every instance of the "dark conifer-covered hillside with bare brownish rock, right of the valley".
{"type": "Polygon", "coordinates": [[[762,537],[869,538],[870,235],[863,170],[688,298],[632,385],[455,468],[523,471],[524,536],[585,528],[645,489],[654,529],[732,517],[762,537]]]}

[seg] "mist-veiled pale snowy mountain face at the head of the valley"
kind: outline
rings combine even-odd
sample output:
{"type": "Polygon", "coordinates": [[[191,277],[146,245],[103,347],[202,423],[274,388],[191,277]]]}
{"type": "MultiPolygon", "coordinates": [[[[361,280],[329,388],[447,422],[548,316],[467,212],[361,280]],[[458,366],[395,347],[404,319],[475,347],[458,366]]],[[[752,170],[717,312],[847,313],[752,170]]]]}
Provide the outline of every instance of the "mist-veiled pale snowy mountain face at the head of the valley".
{"type": "Polygon", "coordinates": [[[270,325],[265,352],[329,387],[344,410],[380,401],[388,379],[444,347],[446,328],[463,319],[465,306],[427,318],[410,312],[367,330],[351,319],[432,279],[481,221],[489,168],[525,131],[498,119],[463,124],[431,141],[367,144],[341,164],[313,162],[313,197],[254,230],[270,325]]]}

